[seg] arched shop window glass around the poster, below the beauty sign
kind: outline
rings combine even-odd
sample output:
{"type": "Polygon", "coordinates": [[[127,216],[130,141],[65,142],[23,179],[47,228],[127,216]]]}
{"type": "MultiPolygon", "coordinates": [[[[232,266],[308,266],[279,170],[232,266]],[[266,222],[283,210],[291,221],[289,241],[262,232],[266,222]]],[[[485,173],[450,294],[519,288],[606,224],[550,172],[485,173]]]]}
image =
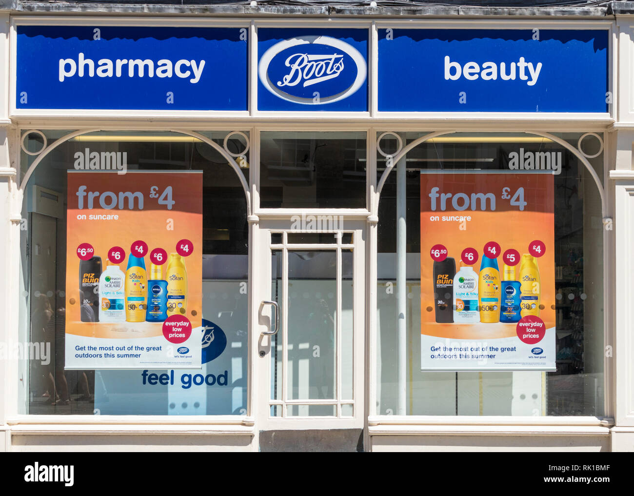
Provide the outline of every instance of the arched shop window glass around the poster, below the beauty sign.
{"type": "MultiPolygon", "coordinates": [[[[400,137],[406,145],[423,134],[402,133],[400,137]]],[[[555,136],[576,148],[581,133],[555,136]]],[[[395,153],[398,147],[393,136],[385,136],[379,144],[386,155],[395,153]]],[[[598,177],[603,178],[600,141],[590,136],[583,140],[582,147],[586,155],[596,155],[588,160],[598,177]]],[[[378,391],[375,414],[604,415],[602,206],[597,185],[578,157],[555,141],[530,134],[456,133],[421,143],[406,155],[405,163],[406,198],[402,204],[406,210],[405,381],[399,382],[396,284],[399,199],[395,165],[382,189],[378,207],[378,391]],[[429,365],[429,357],[422,360],[422,353],[429,353],[429,350],[421,350],[422,327],[430,320],[425,314],[434,314],[436,308],[433,301],[422,301],[421,292],[432,294],[436,289],[429,283],[431,275],[421,275],[422,260],[430,259],[430,252],[421,250],[421,240],[427,243],[429,239],[436,239],[438,244],[442,244],[443,240],[437,239],[438,233],[434,230],[421,232],[421,171],[508,172],[509,161],[513,158],[511,153],[519,153],[520,150],[524,153],[554,152],[555,155],[551,156],[556,160],[559,160],[557,153],[560,152],[560,173],[553,176],[554,246],[549,253],[554,258],[553,273],[542,278],[544,284],[545,277],[548,278],[553,290],[549,292],[550,296],[541,300],[545,309],[553,311],[556,332],[552,358],[556,370],[496,371],[474,367],[471,370],[432,372],[428,367],[422,371],[429,365]],[[429,283],[430,287],[421,287],[421,281],[425,285],[429,283]],[[399,391],[402,391],[401,396],[399,391]]],[[[377,168],[380,179],[385,170],[385,159],[379,159],[377,168]]],[[[458,205],[463,206],[460,202],[458,205]]],[[[510,227],[491,225],[489,228],[491,238],[495,238],[496,233],[510,227]]],[[[475,249],[482,257],[483,247],[475,249]]],[[[455,259],[456,271],[459,270],[461,255],[460,252],[449,254],[455,259]]],[[[540,264],[545,266],[545,262],[540,264]]],[[[500,258],[500,276],[502,267],[500,258]]],[[[474,268],[477,273],[481,260],[474,268]]],[[[455,303],[452,305],[451,308],[455,309],[455,303]]],[[[534,346],[546,348],[541,344],[534,346]]],[[[535,353],[540,353],[540,349],[535,349],[535,353]]]]}

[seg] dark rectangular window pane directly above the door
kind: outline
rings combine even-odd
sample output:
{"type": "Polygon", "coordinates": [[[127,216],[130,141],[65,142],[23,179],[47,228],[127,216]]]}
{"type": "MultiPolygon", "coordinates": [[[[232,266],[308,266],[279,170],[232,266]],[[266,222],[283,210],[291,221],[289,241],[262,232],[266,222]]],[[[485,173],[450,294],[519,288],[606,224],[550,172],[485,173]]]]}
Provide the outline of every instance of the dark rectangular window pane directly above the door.
{"type": "Polygon", "coordinates": [[[365,208],[365,133],[261,133],[262,208],[365,208]]]}

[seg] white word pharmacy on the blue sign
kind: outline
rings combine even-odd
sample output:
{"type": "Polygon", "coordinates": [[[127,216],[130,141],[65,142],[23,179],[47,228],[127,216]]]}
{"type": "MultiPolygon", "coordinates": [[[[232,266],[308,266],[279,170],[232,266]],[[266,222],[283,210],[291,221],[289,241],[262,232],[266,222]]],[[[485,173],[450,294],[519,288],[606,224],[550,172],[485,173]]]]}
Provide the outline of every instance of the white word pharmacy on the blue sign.
{"type": "Polygon", "coordinates": [[[74,58],[60,58],[59,79],[64,82],[68,77],[172,77],[176,74],[181,79],[190,78],[192,84],[200,81],[200,76],[205,67],[205,61],[181,59],[172,62],[162,58],[158,62],[150,59],[127,59],[101,58],[95,64],[91,58],[85,58],[84,53],[77,55],[77,62],[74,58]]]}

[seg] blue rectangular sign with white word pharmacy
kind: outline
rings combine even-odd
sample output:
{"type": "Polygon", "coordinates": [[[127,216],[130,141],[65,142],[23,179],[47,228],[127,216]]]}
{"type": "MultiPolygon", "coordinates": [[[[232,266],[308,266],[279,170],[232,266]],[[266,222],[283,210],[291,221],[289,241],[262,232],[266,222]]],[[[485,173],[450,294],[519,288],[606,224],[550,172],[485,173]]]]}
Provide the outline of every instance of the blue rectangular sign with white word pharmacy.
{"type": "Polygon", "coordinates": [[[18,25],[18,109],[248,110],[248,30],[18,25]]]}

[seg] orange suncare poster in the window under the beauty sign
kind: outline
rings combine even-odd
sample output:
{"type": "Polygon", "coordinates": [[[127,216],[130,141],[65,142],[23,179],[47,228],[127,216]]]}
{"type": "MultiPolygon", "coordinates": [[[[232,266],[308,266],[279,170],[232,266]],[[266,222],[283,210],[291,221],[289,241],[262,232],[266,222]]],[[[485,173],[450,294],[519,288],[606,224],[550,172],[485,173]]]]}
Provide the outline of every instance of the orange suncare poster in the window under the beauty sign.
{"type": "Polygon", "coordinates": [[[555,370],[551,171],[420,174],[422,370],[555,370]]]}

